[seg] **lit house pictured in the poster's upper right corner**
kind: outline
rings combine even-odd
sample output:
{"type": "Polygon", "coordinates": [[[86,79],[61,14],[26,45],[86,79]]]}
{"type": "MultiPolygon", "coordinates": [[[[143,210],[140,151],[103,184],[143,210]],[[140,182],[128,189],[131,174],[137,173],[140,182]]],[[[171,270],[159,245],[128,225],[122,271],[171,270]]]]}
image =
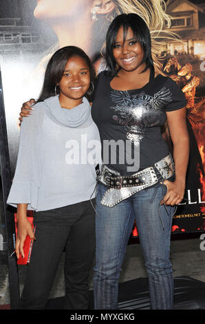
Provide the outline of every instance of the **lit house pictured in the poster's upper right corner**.
{"type": "Polygon", "coordinates": [[[170,28],[180,39],[165,40],[163,50],[171,55],[205,54],[205,4],[195,5],[188,0],[169,0],[166,13],[171,16],[170,28]]]}

